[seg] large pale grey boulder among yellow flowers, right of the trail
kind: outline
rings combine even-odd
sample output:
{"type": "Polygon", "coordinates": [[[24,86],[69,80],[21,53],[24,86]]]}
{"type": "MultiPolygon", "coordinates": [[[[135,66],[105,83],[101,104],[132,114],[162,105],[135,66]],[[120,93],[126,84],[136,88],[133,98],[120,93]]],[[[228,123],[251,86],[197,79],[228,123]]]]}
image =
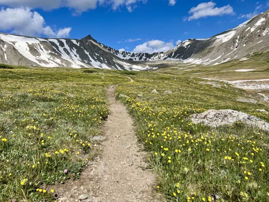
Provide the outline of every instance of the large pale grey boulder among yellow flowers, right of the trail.
{"type": "Polygon", "coordinates": [[[191,119],[193,123],[203,123],[211,127],[232,125],[236,121],[241,121],[246,125],[269,131],[269,123],[266,121],[232,109],[209,109],[200,114],[192,114],[191,119]]]}

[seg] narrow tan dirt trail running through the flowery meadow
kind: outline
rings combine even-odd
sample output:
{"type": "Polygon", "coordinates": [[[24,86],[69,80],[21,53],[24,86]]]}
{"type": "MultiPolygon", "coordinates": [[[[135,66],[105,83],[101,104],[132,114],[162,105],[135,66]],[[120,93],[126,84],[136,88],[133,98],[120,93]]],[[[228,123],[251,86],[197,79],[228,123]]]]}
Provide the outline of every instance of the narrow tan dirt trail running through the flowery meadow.
{"type": "Polygon", "coordinates": [[[59,186],[57,201],[73,202],[154,202],[155,175],[146,169],[134,134],[133,120],[124,105],[108,89],[110,112],[103,126],[102,154],[91,162],[81,178],[59,186]],[[86,194],[82,197],[83,194],[86,194]],[[79,197],[85,198],[79,200],[79,197]]]}

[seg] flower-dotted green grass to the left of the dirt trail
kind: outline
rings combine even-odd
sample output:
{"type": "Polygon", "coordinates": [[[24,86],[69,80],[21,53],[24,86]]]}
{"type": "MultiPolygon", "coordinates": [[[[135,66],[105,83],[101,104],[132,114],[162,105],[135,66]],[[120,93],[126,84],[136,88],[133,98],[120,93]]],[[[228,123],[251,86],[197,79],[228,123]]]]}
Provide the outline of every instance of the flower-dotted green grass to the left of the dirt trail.
{"type": "Polygon", "coordinates": [[[60,68],[0,71],[0,201],[52,201],[47,185],[78,179],[95,155],[90,139],[109,113],[105,87],[112,76],[60,68]]]}

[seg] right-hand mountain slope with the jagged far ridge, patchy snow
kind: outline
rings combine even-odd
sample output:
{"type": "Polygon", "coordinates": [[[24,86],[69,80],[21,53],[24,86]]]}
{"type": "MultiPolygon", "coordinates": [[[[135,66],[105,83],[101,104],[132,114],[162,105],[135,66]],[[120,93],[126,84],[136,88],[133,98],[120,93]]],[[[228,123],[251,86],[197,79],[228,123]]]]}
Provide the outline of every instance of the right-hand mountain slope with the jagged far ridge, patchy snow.
{"type": "Polygon", "coordinates": [[[181,60],[204,65],[239,59],[255,51],[269,50],[269,10],[241,25],[208,39],[188,39],[165,53],[132,54],[107,48],[127,60],[181,60]]]}

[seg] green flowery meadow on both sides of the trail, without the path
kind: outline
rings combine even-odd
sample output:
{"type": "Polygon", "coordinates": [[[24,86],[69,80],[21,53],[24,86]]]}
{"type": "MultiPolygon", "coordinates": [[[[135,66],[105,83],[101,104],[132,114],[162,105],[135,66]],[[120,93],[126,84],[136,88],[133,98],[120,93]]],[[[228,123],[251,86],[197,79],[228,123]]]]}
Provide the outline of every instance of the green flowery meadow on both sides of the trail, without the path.
{"type": "MultiPolygon", "coordinates": [[[[259,68],[265,67],[253,69],[259,68]]],[[[210,128],[189,119],[207,109],[234,109],[269,121],[268,113],[256,111],[269,110],[268,104],[238,102],[256,94],[222,82],[211,87],[174,69],[0,68],[0,201],[53,201],[57,190],[47,185],[79,178],[94,156],[91,137],[109,113],[110,85],[118,85],[116,96],[135,119],[158,176],[155,190],[167,201],[268,200],[268,132],[242,123],[210,128]]]]}

